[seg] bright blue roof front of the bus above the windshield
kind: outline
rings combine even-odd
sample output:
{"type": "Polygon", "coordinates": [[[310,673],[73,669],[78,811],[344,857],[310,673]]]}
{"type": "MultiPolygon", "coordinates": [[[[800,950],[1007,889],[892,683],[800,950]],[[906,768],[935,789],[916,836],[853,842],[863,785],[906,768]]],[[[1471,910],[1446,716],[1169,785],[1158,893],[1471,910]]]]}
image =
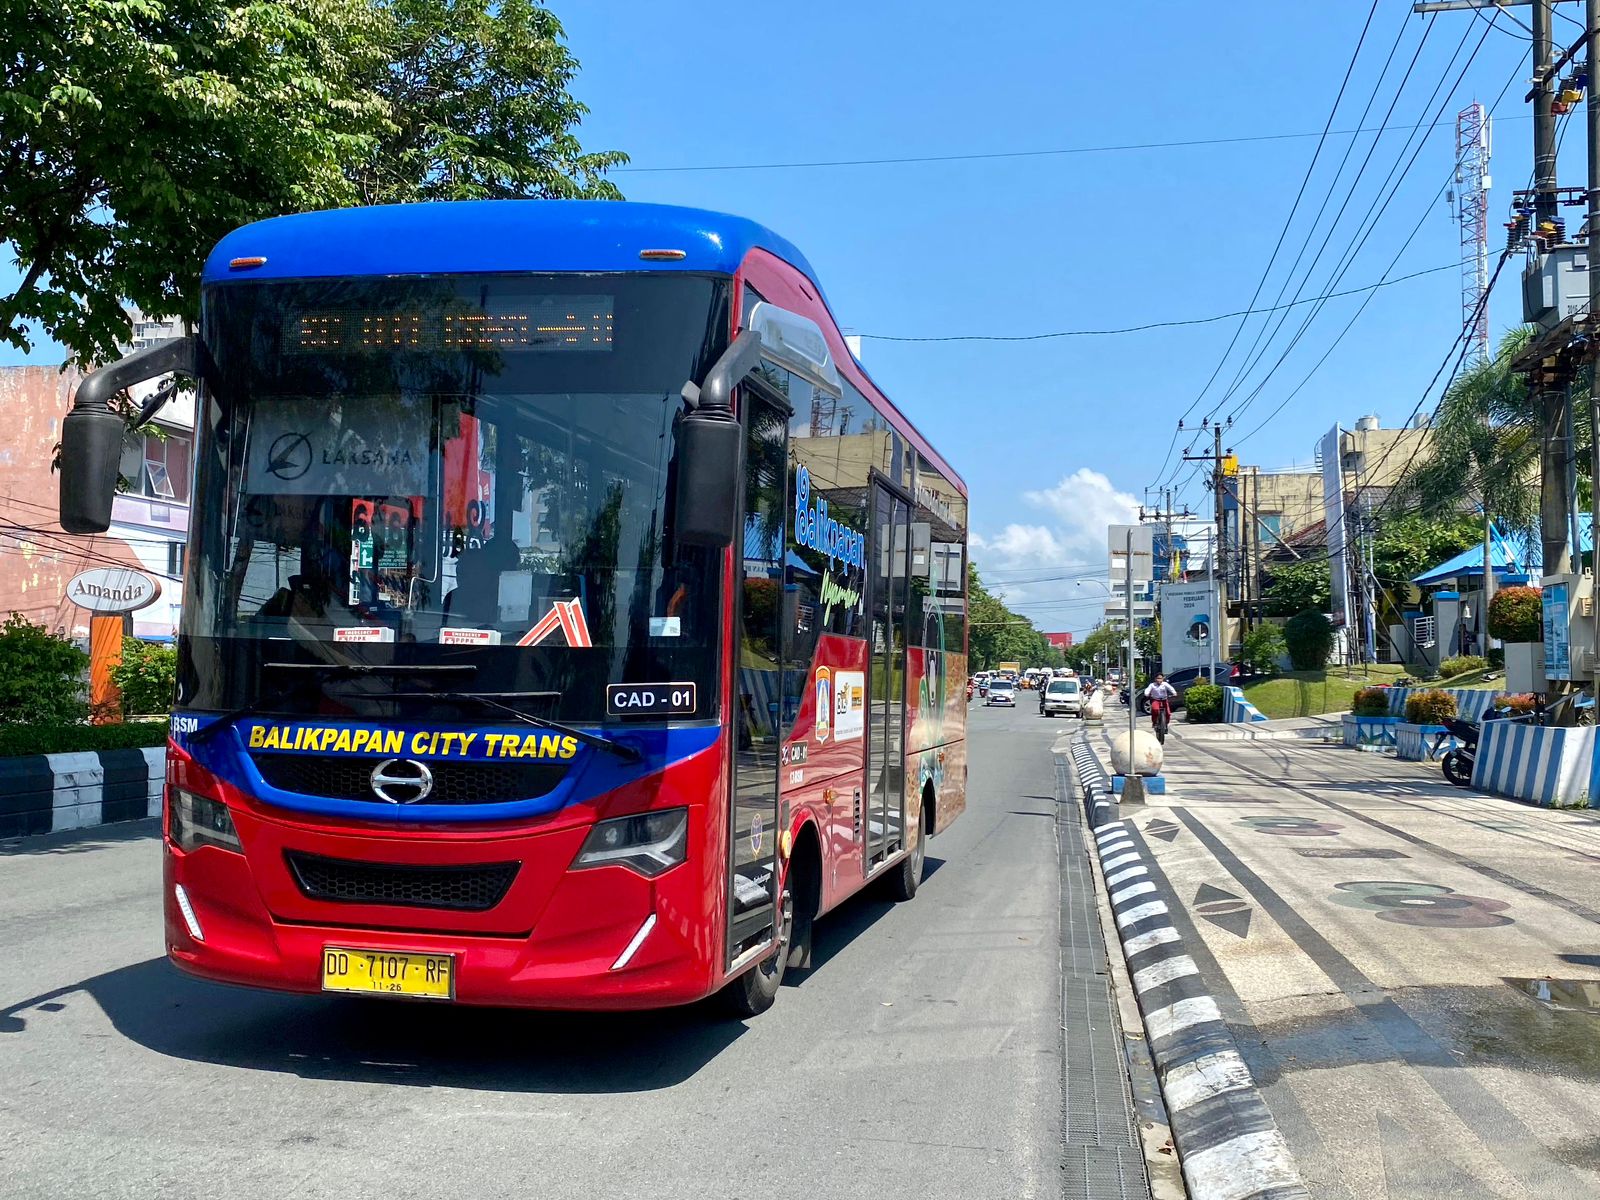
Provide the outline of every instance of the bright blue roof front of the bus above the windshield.
{"type": "Polygon", "coordinates": [[[456,200],[278,216],[235,229],[218,242],[202,280],[523,270],[731,275],[757,246],[818,283],[798,250],[754,221],[702,208],[618,200],[456,200]],[[645,261],[638,256],[642,250],[682,250],[683,258],[645,261]],[[229,267],[240,258],[266,262],[229,267]]]}

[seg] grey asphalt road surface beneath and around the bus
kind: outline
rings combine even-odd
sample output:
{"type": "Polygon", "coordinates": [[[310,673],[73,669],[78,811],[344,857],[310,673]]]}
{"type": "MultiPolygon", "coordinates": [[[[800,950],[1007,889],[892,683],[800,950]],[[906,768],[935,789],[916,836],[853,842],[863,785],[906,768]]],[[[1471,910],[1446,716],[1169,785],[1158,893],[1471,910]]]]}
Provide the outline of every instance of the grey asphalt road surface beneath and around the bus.
{"type": "Polygon", "coordinates": [[[0,1195],[1056,1195],[1061,728],[974,706],[917,899],[819,923],[749,1024],[197,982],[154,822],[0,846],[0,1195]]]}

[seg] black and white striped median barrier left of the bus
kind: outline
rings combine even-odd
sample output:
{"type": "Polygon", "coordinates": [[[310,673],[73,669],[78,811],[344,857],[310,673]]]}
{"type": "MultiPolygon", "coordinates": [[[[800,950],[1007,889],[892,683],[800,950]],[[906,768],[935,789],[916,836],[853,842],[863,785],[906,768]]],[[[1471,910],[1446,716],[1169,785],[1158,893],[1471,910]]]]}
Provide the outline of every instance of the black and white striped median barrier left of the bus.
{"type": "Polygon", "coordinates": [[[166,747],[0,758],[0,837],[162,814],[166,747]]]}

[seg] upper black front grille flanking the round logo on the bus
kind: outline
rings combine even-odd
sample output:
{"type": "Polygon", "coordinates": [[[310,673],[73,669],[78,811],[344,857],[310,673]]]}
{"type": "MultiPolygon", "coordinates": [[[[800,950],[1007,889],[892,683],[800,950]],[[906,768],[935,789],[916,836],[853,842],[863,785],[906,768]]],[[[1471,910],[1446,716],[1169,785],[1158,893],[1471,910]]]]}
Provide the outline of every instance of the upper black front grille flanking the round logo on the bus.
{"type": "MultiPolygon", "coordinates": [[[[251,760],[261,778],[282,792],[386,803],[373,792],[373,771],[389,762],[381,755],[256,754],[251,760]]],[[[566,763],[430,760],[427,765],[434,774],[434,789],[424,800],[429,805],[534,800],[566,778],[566,763]]]]}

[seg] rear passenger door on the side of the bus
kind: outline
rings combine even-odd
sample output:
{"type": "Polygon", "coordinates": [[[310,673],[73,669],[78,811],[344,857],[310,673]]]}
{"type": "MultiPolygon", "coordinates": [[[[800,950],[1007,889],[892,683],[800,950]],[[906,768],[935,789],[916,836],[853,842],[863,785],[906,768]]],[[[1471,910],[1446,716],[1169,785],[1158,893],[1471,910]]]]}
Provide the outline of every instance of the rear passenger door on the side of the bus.
{"type": "Polygon", "coordinates": [[[872,661],[867,670],[867,853],[870,875],[906,842],[906,587],[910,506],[882,482],[872,488],[867,584],[872,661]]]}

